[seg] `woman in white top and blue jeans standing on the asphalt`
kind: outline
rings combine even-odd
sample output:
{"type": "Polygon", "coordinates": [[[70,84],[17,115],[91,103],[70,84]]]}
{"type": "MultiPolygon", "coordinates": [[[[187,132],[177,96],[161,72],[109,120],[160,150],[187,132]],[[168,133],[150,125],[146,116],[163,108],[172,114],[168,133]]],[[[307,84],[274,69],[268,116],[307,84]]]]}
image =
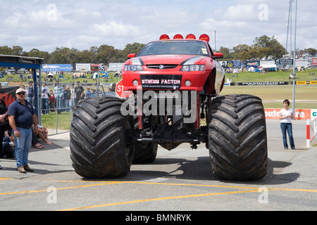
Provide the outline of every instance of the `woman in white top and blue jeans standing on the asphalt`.
{"type": "Polygon", "coordinates": [[[289,108],[290,101],[285,99],[283,101],[283,105],[284,105],[284,108],[280,110],[280,129],[282,129],[284,149],[288,148],[287,137],[286,137],[286,131],[287,131],[288,138],[290,139],[290,146],[294,150],[295,144],[294,144],[293,131],[292,131],[292,120],[294,118],[294,114],[293,114],[293,110],[289,108]]]}

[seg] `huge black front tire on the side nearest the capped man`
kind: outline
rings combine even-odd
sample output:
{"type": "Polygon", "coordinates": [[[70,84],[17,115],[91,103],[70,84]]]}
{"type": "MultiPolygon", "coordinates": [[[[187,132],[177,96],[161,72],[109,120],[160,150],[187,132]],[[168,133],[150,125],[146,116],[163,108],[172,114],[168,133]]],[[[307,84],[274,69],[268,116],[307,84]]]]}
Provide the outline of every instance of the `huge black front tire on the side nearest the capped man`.
{"type": "Polygon", "coordinates": [[[75,172],[89,178],[125,176],[132,164],[133,118],[123,116],[118,98],[80,101],[70,129],[70,158],[75,172]]]}

